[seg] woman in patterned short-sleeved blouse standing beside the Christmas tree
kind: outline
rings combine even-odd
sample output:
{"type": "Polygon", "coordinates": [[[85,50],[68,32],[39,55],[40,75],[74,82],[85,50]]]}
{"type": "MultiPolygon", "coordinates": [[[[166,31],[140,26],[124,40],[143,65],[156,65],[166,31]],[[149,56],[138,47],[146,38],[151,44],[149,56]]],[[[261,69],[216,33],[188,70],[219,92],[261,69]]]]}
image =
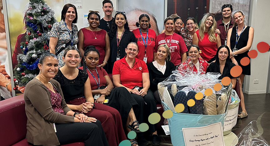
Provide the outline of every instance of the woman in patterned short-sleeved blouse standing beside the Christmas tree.
{"type": "Polygon", "coordinates": [[[61,12],[61,21],[53,24],[49,42],[50,53],[57,56],[59,67],[64,66],[62,56],[64,50],[78,43],[78,28],[75,24],[78,20],[77,9],[73,4],[64,5],[61,12]]]}

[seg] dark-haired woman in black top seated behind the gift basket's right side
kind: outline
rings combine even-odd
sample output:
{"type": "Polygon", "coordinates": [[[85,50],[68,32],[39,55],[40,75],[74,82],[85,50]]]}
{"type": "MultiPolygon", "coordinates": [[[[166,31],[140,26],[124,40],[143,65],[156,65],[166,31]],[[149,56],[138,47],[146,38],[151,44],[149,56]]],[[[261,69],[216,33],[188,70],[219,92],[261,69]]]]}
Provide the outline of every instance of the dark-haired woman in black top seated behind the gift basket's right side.
{"type": "Polygon", "coordinates": [[[216,61],[212,62],[208,66],[206,73],[207,72],[220,73],[221,76],[219,77],[219,79],[222,79],[223,77],[226,77],[226,76],[229,77],[231,79],[232,89],[233,89],[235,87],[236,79],[238,77],[233,77],[230,74],[230,71],[231,71],[232,67],[235,66],[235,64],[230,62],[229,55],[230,55],[229,47],[226,45],[221,45],[217,49],[216,61]]]}

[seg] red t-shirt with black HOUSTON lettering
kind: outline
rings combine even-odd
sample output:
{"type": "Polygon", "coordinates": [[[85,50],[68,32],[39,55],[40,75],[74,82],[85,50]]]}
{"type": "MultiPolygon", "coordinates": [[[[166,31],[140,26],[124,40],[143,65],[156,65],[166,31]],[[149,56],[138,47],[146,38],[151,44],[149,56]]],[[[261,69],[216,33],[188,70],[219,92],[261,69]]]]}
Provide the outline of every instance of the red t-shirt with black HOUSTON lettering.
{"type": "MultiPolygon", "coordinates": [[[[137,40],[137,44],[139,46],[139,53],[136,56],[136,58],[143,60],[143,57],[145,56],[145,46],[144,46],[139,28],[134,29],[132,32],[134,33],[134,36],[137,40]]],[[[146,43],[147,32],[146,33],[142,32],[142,35],[146,43]]],[[[157,37],[156,32],[153,29],[148,29],[148,41],[147,41],[147,47],[146,47],[147,64],[154,60],[154,48],[155,48],[156,37],[157,37]]]]}

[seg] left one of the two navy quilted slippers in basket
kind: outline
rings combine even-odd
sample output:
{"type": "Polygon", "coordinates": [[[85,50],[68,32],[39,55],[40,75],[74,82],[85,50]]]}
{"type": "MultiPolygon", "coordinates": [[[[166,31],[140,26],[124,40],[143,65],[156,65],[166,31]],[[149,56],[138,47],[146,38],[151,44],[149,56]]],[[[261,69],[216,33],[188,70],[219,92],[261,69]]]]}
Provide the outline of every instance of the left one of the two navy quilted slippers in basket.
{"type": "Polygon", "coordinates": [[[176,95],[174,96],[174,100],[173,100],[173,104],[174,106],[178,105],[178,104],[183,104],[185,106],[185,109],[183,112],[181,113],[186,113],[189,114],[189,107],[187,106],[187,95],[185,93],[185,91],[180,90],[176,93],[176,95]]]}

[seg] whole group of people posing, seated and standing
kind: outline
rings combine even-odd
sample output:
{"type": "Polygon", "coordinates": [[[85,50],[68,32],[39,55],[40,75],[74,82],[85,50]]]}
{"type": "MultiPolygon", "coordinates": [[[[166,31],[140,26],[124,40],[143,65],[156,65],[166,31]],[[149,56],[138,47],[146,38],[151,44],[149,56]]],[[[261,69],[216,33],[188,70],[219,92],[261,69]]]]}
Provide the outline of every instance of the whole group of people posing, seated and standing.
{"type": "MultiPolygon", "coordinates": [[[[112,17],[110,0],[103,1],[104,18],[89,11],[89,27],[78,31],[76,7],[66,4],[61,21],[51,30],[50,53],[40,56],[40,73],[25,87],[27,141],[34,145],[84,141],[85,145],[118,146],[135,131],[132,146],[143,146],[148,141],[139,125],[147,123],[152,144],[159,145],[157,125],[148,122],[161,102],[158,83],[176,67],[190,66],[187,56],[194,72],[229,76],[233,88],[233,66],[243,69],[240,88],[244,76],[250,75],[250,65],[242,66],[240,60],[248,57],[254,30],[244,24],[241,11],[231,16],[232,5],[221,9],[221,24],[206,13],[199,27],[193,17],[187,18],[184,27],[181,17],[173,15],[164,20],[164,33],[157,36],[147,14],[139,16],[139,28],[130,32],[125,12],[116,11],[112,17]]],[[[239,117],[243,118],[247,112],[240,91],[239,117]]]]}

